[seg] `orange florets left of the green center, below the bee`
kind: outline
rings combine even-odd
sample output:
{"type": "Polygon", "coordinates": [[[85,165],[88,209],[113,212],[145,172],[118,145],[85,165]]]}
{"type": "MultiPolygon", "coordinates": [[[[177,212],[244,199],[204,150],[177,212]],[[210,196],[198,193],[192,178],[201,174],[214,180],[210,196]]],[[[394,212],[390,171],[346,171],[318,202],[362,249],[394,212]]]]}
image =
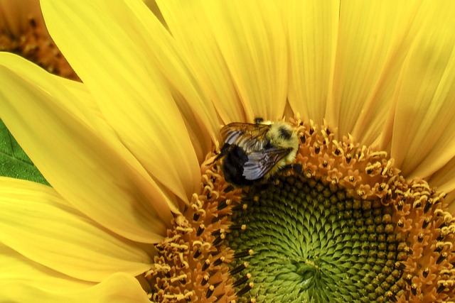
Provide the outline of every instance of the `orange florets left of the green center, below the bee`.
{"type": "Polygon", "coordinates": [[[156,244],[159,255],[144,274],[152,302],[236,302],[234,285],[243,282],[235,284],[230,272],[248,265],[230,268],[234,258],[245,254],[230,249],[225,238],[245,229],[230,221],[234,206],[241,205],[241,191],[220,174],[220,167],[203,165],[200,193],[193,194],[188,209],[173,219],[174,228],[156,244]]]}

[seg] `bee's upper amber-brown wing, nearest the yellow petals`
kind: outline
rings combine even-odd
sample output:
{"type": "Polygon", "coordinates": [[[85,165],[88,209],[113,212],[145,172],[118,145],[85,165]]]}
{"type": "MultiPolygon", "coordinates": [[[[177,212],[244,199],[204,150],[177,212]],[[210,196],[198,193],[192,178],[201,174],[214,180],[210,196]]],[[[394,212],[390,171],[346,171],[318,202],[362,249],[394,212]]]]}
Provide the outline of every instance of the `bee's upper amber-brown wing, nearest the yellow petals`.
{"type": "Polygon", "coordinates": [[[261,150],[264,148],[265,133],[269,131],[269,124],[229,123],[220,131],[224,143],[239,145],[245,151],[261,150]]]}

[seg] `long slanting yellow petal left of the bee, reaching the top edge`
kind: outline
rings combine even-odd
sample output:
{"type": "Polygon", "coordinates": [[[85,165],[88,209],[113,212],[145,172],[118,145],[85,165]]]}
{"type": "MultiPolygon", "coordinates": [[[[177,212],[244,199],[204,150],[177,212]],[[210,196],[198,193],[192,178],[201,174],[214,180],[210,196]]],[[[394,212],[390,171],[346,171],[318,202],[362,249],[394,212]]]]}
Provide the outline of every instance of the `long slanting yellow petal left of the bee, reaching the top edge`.
{"type": "MultiPolygon", "coordinates": [[[[42,6],[55,43],[119,138],[156,182],[187,201],[199,186],[199,164],[173,99],[176,77],[186,100],[198,95],[187,67],[173,57],[176,52],[164,53],[173,47],[169,33],[141,1],[43,1],[42,6]],[[171,83],[163,70],[173,72],[171,83]]],[[[200,106],[190,109],[198,112],[200,106]]]]}

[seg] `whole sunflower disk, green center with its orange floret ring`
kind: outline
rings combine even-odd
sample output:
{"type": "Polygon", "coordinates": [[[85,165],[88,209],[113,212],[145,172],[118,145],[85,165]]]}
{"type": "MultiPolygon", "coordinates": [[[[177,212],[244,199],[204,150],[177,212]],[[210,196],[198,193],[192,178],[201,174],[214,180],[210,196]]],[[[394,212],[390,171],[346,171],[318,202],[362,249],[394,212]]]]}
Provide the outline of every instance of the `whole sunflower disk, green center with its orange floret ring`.
{"type": "Polygon", "coordinates": [[[153,302],[455,302],[455,219],[382,150],[291,120],[291,167],[235,187],[215,155],[144,276],[153,302]]]}

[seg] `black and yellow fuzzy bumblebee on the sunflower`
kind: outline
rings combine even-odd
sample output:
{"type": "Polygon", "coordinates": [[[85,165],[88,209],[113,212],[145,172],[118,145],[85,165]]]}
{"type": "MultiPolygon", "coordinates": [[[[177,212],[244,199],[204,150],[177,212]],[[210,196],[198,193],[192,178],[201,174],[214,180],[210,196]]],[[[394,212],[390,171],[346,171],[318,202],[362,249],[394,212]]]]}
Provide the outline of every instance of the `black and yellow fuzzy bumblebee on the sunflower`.
{"type": "Polygon", "coordinates": [[[223,158],[225,180],[237,186],[269,179],[290,165],[299,149],[294,128],[284,122],[229,123],[220,136],[223,145],[215,161],[223,158]]]}

